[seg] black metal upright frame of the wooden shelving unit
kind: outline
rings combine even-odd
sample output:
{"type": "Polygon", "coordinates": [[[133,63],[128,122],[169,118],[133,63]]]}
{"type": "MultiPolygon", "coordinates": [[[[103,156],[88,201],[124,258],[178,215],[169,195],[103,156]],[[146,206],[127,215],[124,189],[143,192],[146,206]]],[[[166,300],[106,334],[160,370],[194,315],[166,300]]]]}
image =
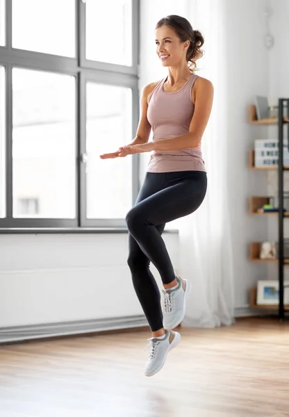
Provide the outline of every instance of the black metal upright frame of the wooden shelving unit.
{"type": "Polygon", "coordinates": [[[279,190],[279,320],[283,321],[284,310],[284,171],[288,167],[283,164],[283,142],[284,130],[287,129],[288,150],[289,150],[289,99],[279,99],[278,106],[278,137],[279,137],[279,166],[278,166],[278,190],[279,190]],[[286,126],[287,125],[287,126],[286,126]],[[286,128],[284,128],[286,126],[286,128]]]}

